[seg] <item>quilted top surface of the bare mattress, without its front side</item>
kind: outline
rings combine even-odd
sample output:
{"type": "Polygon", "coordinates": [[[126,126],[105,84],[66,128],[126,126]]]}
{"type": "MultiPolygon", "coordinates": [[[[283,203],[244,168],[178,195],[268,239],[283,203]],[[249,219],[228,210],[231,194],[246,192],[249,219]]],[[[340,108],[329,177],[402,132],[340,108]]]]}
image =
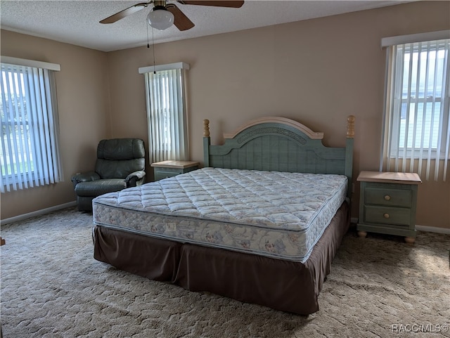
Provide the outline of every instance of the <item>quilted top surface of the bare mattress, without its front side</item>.
{"type": "Polygon", "coordinates": [[[97,197],[94,203],[264,228],[303,231],[345,199],[347,177],[204,168],[97,197]]]}

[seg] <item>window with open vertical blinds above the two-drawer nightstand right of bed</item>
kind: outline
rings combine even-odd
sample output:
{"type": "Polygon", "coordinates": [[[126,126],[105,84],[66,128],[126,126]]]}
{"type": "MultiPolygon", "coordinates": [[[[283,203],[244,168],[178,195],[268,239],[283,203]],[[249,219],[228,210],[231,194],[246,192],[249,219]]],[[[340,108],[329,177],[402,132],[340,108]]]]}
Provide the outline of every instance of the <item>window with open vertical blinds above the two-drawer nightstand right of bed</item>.
{"type": "MultiPolygon", "coordinates": [[[[414,37],[420,39],[418,35],[414,37]]],[[[423,34],[422,39],[427,37],[423,34]]],[[[450,39],[389,46],[382,169],[418,172],[427,180],[431,173],[436,181],[445,181],[450,154],[449,46],[450,39]]]]}

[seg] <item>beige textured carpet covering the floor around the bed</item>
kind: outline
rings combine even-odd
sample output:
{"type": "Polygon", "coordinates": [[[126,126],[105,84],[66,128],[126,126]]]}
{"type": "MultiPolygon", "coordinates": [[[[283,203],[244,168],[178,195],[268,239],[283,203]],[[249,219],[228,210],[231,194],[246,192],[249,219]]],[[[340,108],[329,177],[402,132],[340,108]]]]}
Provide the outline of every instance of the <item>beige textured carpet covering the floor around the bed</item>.
{"type": "Polygon", "coordinates": [[[351,230],[320,310],[302,317],[117,271],[92,258],[91,218],[70,208],[1,228],[5,338],[450,336],[449,235],[351,230]]]}

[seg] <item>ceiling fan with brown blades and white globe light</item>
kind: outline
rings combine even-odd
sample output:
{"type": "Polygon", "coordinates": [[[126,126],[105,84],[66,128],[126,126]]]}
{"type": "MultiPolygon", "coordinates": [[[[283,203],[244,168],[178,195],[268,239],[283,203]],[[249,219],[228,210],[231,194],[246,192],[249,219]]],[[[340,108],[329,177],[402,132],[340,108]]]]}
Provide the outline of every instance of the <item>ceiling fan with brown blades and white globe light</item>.
{"type": "MultiPolygon", "coordinates": [[[[216,7],[230,7],[240,8],[244,1],[176,1],[183,5],[200,5],[200,6],[216,6],[216,7]]],[[[175,6],[175,4],[167,4],[167,1],[153,0],[148,2],[142,2],[129,8],[125,8],[123,11],[117,12],[108,18],[100,21],[100,23],[113,23],[117,20],[123,19],[128,15],[141,11],[141,9],[153,4],[153,8],[148,13],[147,21],[151,27],[158,30],[165,30],[172,25],[175,25],[179,30],[190,30],[194,27],[194,23],[181,12],[181,10],[175,6]]]]}

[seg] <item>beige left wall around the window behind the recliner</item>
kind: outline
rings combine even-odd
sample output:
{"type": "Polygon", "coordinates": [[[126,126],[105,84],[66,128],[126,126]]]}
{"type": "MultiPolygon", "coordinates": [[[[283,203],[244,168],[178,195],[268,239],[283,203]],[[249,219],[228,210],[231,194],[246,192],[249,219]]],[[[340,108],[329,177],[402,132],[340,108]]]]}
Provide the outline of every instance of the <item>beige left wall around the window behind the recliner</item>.
{"type": "Polygon", "coordinates": [[[1,30],[1,55],[59,63],[56,73],[65,181],[2,193],[1,219],[73,202],[70,177],[94,168],[96,144],[111,136],[107,54],[1,30]]]}

